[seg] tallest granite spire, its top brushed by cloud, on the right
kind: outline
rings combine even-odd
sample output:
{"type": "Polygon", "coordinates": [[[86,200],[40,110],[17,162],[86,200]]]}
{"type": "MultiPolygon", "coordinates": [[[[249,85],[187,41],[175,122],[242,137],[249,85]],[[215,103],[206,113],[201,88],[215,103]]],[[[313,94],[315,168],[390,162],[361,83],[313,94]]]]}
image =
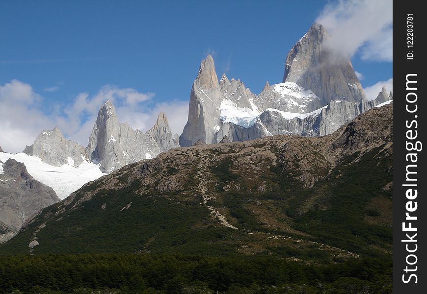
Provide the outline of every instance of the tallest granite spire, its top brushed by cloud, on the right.
{"type": "Polygon", "coordinates": [[[350,60],[324,46],[328,38],[322,25],[313,24],[289,51],[283,82],[312,90],[323,106],[331,100],[367,100],[350,60]]]}

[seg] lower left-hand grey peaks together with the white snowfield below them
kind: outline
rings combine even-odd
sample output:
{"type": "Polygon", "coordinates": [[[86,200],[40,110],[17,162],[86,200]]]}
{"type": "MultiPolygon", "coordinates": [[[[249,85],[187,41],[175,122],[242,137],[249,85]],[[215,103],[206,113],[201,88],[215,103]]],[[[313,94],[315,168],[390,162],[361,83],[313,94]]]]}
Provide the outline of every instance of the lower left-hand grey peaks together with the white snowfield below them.
{"type": "Polygon", "coordinates": [[[18,154],[0,149],[0,172],[8,159],[25,164],[35,180],[52,187],[60,199],[129,163],[156,157],[160,152],[179,147],[166,115],[160,113],[155,125],[146,133],[119,123],[114,105],[106,101],[85,148],[67,140],[59,128],[43,130],[34,144],[18,154]]]}

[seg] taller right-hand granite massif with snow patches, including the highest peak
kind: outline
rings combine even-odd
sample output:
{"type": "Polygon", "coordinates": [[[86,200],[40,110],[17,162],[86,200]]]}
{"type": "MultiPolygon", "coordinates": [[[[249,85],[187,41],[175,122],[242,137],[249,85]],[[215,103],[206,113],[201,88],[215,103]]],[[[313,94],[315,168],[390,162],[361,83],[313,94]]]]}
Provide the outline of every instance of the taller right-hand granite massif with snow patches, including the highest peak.
{"type": "MultiPolygon", "coordinates": [[[[200,65],[189,101],[181,146],[295,134],[322,136],[387,100],[368,101],[348,58],[322,46],[328,35],[314,24],[290,50],[282,83],[268,82],[259,95],[225,74],[218,81],[212,56],[200,65]]],[[[383,91],[383,92],[384,92],[383,91]]]]}

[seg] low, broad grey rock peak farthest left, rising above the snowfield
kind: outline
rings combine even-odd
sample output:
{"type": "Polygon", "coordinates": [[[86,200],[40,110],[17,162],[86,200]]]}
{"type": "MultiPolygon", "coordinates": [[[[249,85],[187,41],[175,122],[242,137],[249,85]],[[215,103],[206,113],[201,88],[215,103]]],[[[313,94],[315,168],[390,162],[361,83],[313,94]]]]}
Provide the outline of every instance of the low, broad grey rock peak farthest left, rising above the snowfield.
{"type": "Polygon", "coordinates": [[[27,146],[23,152],[40,157],[42,162],[55,167],[67,163],[78,167],[83,160],[88,159],[84,147],[66,140],[58,127],[53,130],[43,130],[34,144],[27,146]]]}

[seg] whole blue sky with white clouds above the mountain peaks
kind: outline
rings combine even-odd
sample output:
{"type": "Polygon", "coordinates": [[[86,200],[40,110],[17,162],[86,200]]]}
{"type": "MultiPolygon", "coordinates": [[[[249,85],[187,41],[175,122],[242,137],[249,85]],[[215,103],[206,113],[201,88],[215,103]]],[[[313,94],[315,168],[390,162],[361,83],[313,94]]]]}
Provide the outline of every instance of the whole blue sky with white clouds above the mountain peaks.
{"type": "Polygon", "coordinates": [[[58,126],[86,146],[103,101],[146,131],[181,134],[200,62],[259,94],[310,26],[351,59],[368,98],[393,89],[392,0],[0,1],[0,147],[58,126]]]}

